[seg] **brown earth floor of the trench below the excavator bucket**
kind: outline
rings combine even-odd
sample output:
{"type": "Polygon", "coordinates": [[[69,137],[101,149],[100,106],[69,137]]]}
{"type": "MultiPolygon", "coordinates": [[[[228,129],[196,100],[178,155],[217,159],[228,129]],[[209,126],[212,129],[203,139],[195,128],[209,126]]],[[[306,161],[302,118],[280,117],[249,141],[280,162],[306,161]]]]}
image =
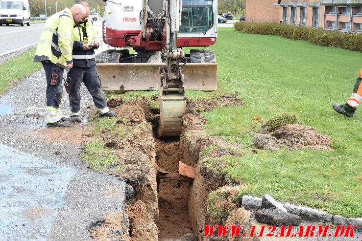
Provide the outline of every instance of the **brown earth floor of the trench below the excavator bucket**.
{"type": "MultiPolygon", "coordinates": [[[[180,137],[155,138],[157,169],[178,174],[182,161],[180,137]]],[[[176,178],[177,179],[177,178],[176,178]]],[[[159,241],[177,241],[184,234],[193,233],[189,213],[188,196],[190,182],[158,179],[159,241]]]]}

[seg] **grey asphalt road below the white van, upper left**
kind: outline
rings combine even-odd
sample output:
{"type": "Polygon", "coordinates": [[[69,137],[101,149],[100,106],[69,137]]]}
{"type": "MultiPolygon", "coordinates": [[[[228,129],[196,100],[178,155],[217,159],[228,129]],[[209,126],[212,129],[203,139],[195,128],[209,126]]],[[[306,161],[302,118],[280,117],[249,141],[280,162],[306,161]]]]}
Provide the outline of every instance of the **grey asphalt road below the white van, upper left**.
{"type": "Polygon", "coordinates": [[[31,24],[30,26],[9,25],[0,26],[0,55],[2,53],[37,43],[45,23],[31,24]]]}

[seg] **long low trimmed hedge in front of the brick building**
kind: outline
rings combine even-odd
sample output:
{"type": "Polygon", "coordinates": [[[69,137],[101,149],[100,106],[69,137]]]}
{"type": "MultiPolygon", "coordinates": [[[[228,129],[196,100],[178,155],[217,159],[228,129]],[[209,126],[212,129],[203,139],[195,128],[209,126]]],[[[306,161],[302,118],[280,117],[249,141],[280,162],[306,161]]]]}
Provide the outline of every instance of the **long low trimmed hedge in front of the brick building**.
{"type": "Polygon", "coordinates": [[[275,22],[236,22],[235,29],[243,33],[279,35],[293,40],[306,40],[321,46],[362,52],[362,34],[329,31],[275,22]]]}

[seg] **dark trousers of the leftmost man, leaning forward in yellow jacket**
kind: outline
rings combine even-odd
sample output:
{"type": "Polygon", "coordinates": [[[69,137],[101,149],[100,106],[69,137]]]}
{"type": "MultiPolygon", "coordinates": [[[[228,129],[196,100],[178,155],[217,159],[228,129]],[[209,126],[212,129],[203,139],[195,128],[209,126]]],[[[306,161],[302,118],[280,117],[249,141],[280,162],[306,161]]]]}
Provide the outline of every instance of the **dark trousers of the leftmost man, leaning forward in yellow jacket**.
{"type": "Polygon", "coordinates": [[[60,102],[62,101],[62,80],[64,69],[51,63],[50,61],[42,61],[42,64],[45,70],[45,76],[47,78],[47,106],[58,109],[60,102]],[[50,85],[52,74],[58,75],[58,80],[54,86],[50,85]]]}

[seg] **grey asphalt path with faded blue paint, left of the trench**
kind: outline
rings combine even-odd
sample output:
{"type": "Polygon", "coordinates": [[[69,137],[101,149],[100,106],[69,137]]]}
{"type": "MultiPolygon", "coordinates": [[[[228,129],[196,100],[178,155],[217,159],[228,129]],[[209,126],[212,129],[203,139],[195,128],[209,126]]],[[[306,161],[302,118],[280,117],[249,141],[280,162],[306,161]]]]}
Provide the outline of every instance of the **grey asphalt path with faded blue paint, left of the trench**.
{"type": "MultiPolygon", "coordinates": [[[[89,240],[92,223],[124,210],[124,182],[79,160],[82,142],[38,138],[46,128],[45,90],[41,69],[0,98],[1,241],[89,240]]],[[[74,131],[88,128],[95,107],[83,86],[81,95],[82,123],[52,130],[69,131],[72,139],[74,131]]],[[[69,116],[69,109],[63,89],[60,110],[69,116]]]]}

